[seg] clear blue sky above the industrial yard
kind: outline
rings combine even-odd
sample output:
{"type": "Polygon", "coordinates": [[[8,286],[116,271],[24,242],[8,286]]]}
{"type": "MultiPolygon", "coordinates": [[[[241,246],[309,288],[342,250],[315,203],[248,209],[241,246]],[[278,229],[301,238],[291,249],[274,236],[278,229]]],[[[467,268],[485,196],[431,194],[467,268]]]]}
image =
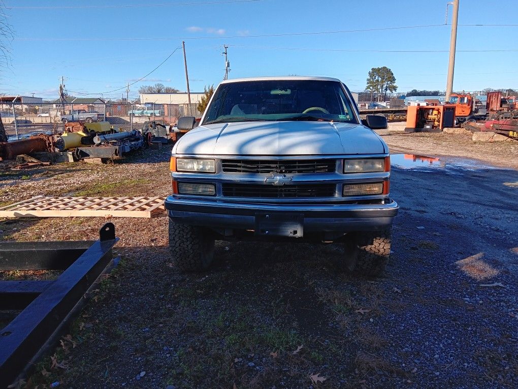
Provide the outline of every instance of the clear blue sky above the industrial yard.
{"type": "MultiPolygon", "coordinates": [[[[195,92],[222,79],[223,44],[229,45],[230,78],[321,75],[340,78],[351,90],[361,91],[371,67],[388,66],[398,92],[444,90],[450,44],[450,25],[443,25],[446,4],[442,0],[5,0],[15,39],[12,65],[0,73],[0,93],[34,92],[53,98],[62,75],[69,91],[112,91],[152,71],[181,46],[182,39],[195,92]],[[436,52],[400,52],[405,50],[436,52]]],[[[515,0],[461,0],[454,90],[518,89],[515,6],[515,0]]],[[[130,96],[137,96],[140,85],[155,82],[185,90],[181,50],[133,85],[130,96]]],[[[122,92],[103,97],[120,98],[122,92]]]]}

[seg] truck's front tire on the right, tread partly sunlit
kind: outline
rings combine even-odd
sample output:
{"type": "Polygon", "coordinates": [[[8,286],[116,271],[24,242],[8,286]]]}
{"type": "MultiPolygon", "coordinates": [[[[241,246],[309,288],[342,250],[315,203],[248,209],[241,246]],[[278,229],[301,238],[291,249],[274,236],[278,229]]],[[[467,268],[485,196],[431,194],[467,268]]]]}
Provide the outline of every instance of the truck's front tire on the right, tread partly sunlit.
{"type": "Polygon", "coordinates": [[[364,275],[379,276],[389,262],[392,229],[356,233],[358,247],[354,269],[364,275]]]}

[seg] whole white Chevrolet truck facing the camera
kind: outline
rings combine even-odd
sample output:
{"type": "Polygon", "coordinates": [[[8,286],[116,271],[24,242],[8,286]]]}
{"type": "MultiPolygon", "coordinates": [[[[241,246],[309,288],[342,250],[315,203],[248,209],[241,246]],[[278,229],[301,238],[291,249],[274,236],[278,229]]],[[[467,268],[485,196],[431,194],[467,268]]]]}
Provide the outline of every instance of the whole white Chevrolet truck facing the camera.
{"type": "Polygon", "coordinates": [[[389,197],[389,148],[361,119],[338,79],[263,77],[223,81],[198,127],[172,149],[172,260],[206,269],[214,240],[342,243],[337,263],[378,275],[391,249],[398,205],[389,197]]]}

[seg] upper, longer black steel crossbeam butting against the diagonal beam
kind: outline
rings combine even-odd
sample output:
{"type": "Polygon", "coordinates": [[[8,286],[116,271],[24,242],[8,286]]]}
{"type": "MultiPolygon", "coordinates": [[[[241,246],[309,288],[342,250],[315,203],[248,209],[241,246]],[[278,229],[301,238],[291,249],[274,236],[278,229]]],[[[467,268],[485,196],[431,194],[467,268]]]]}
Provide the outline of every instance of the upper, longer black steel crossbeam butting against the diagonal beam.
{"type": "Polygon", "coordinates": [[[0,270],[65,270],[92,243],[0,242],[0,270]]]}

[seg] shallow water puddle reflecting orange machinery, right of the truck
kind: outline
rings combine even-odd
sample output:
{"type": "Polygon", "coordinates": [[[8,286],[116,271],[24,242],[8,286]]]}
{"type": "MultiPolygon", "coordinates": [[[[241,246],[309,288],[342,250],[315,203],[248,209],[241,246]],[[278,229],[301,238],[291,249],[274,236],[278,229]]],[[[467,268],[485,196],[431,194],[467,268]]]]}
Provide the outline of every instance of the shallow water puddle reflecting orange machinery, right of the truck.
{"type": "Polygon", "coordinates": [[[398,169],[413,170],[479,170],[479,169],[501,169],[495,166],[486,165],[480,161],[468,158],[456,157],[429,157],[419,154],[391,154],[391,165],[398,169]]]}

